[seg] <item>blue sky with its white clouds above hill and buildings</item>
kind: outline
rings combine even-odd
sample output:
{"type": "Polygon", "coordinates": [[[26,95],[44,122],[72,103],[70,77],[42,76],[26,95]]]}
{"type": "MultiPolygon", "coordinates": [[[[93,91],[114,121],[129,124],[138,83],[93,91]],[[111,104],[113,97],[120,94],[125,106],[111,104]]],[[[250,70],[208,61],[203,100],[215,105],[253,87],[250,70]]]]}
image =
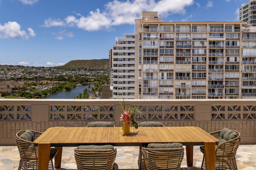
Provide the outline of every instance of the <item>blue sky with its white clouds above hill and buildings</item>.
{"type": "Polygon", "coordinates": [[[0,0],[0,64],[108,58],[115,37],[134,33],[141,11],[159,11],[164,21],[236,21],[248,1],[0,0]]]}

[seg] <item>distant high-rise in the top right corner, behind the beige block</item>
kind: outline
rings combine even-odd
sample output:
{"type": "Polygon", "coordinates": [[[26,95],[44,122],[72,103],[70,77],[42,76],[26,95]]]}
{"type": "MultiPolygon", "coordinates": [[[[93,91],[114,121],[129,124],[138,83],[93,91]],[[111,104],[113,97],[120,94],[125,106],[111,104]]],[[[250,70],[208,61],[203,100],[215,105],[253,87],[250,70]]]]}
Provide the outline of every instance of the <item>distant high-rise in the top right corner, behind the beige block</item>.
{"type": "Polygon", "coordinates": [[[250,0],[239,8],[239,21],[256,26],[256,0],[250,0]]]}

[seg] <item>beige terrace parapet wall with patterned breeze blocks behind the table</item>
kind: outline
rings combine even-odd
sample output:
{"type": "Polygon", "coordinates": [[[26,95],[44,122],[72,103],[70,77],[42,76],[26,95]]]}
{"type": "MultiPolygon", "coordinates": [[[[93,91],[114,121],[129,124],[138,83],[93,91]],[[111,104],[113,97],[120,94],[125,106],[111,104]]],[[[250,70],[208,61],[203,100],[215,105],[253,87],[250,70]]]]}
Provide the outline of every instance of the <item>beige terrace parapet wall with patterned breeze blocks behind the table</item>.
{"type": "MultiPolygon", "coordinates": [[[[49,127],[86,127],[96,121],[122,127],[117,99],[0,99],[0,103],[2,146],[15,145],[15,133],[28,128],[44,132],[49,127]]],[[[256,123],[255,99],[125,99],[125,105],[145,114],[138,113],[138,123],[193,125],[208,132],[231,125],[243,125],[236,130],[250,132],[256,123]]],[[[256,133],[241,133],[241,142],[255,144],[255,138],[256,133]]]]}

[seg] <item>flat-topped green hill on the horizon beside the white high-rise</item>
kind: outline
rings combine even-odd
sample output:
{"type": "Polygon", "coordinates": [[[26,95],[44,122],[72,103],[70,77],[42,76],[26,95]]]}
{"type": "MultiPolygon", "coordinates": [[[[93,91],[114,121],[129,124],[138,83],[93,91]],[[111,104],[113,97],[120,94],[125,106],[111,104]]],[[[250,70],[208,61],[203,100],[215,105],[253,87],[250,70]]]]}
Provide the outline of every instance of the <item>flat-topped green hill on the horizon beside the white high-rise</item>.
{"type": "Polygon", "coordinates": [[[72,60],[65,65],[57,66],[58,69],[75,69],[84,68],[90,70],[108,70],[108,59],[90,59],[90,60],[72,60]]]}

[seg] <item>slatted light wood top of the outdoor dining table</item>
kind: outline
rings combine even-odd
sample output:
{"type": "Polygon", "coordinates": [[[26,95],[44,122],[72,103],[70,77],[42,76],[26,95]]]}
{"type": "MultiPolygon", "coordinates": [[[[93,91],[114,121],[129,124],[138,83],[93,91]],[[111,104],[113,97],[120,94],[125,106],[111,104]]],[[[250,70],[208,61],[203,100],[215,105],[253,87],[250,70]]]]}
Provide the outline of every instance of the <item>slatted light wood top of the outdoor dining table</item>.
{"type": "Polygon", "coordinates": [[[114,146],[143,146],[148,143],[180,142],[202,145],[218,139],[200,127],[131,127],[130,135],[123,135],[122,127],[49,127],[34,144],[78,146],[80,144],[112,144],[114,146]]]}

